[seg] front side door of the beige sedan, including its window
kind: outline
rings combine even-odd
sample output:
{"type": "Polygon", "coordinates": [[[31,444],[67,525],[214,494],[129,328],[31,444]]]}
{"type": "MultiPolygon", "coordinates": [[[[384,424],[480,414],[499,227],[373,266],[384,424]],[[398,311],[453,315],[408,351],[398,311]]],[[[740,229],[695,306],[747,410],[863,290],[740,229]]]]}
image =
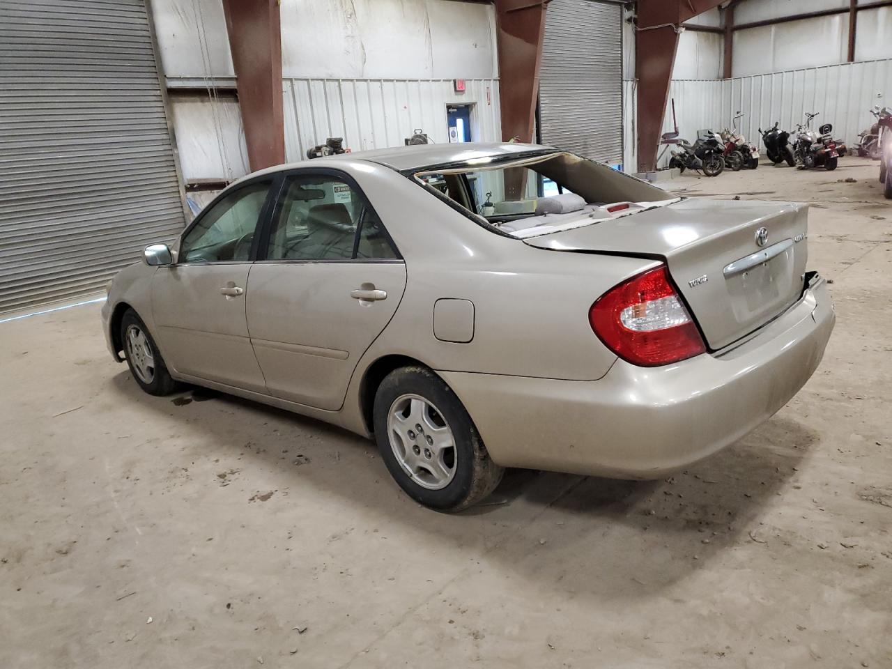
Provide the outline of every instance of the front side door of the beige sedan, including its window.
{"type": "Polygon", "coordinates": [[[244,305],[254,232],[272,178],[260,178],[212,203],[186,230],[177,262],[152,278],[157,336],[180,374],[266,392],[244,305]]]}

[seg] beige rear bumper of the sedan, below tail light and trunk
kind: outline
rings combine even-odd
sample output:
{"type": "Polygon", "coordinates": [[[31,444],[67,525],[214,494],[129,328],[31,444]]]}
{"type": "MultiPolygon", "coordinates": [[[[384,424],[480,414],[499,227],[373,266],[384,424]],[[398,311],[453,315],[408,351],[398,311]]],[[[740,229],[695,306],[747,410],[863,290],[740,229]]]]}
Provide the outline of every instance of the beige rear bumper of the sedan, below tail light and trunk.
{"type": "Polygon", "coordinates": [[[780,318],[715,355],[660,368],[617,359],[598,381],[440,374],[504,467],[657,478],[772,417],[814,374],[835,320],[814,276],[780,318]]]}

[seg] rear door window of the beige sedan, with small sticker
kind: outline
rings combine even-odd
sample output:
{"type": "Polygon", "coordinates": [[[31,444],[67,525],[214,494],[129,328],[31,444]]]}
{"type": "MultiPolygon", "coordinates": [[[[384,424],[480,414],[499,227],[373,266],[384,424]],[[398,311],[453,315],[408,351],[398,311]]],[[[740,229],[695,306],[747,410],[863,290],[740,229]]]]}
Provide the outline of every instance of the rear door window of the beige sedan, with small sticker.
{"type": "Polygon", "coordinates": [[[341,179],[293,177],[285,183],[280,205],[267,260],[396,257],[375,212],[341,179]],[[354,256],[357,228],[360,248],[354,256]]]}

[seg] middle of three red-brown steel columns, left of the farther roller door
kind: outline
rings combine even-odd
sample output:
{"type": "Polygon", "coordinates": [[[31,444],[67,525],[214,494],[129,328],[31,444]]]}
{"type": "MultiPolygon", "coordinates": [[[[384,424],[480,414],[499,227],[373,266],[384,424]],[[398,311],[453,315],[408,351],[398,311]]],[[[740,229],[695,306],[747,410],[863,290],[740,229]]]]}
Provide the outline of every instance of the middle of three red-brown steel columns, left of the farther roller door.
{"type": "Polygon", "coordinates": [[[502,139],[533,141],[549,0],[496,0],[502,139]]]}

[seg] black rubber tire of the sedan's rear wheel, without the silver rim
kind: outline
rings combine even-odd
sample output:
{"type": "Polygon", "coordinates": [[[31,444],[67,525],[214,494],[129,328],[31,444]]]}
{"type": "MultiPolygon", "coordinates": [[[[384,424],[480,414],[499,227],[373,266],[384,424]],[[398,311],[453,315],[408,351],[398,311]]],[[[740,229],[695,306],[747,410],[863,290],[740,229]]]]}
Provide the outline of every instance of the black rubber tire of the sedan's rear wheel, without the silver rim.
{"type": "MultiPolygon", "coordinates": [[[[419,366],[393,370],[375,393],[373,417],[375,440],[388,471],[409,497],[425,507],[438,511],[460,511],[483,500],[501,481],[504,469],[490,459],[467,410],[442,378],[430,369],[419,366]],[[428,417],[433,417],[436,425],[442,423],[448,426],[452,433],[454,448],[451,449],[451,458],[446,460],[446,466],[454,469],[454,474],[450,482],[439,490],[417,483],[417,480],[427,476],[425,471],[422,469],[420,473],[417,472],[417,478],[413,478],[401,464],[401,456],[398,457],[398,452],[420,446],[421,450],[415,459],[424,467],[422,458],[427,457],[425,440],[430,437],[430,434],[424,434],[424,425],[421,433],[409,429],[409,433],[414,436],[405,437],[407,442],[403,442],[398,434],[391,434],[388,419],[392,410],[406,401],[406,396],[420,398],[431,409],[435,409],[428,417]],[[409,442],[410,439],[414,443],[409,442]]],[[[430,432],[428,428],[428,433],[430,432]]],[[[449,458],[449,454],[445,457],[449,458]]]]}

